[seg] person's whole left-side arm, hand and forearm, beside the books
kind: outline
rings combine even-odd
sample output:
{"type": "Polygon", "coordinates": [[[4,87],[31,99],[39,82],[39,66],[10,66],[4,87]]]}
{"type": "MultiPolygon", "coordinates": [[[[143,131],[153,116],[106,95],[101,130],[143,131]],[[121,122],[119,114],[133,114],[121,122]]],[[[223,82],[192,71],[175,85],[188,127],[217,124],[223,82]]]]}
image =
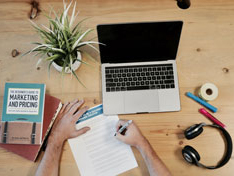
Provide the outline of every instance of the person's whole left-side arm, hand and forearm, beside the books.
{"type": "Polygon", "coordinates": [[[78,137],[90,130],[89,127],[76,129],[76,122],[88,110],[87,106],[80,109],[83,103],[83,100],[78,101],[76,99],[63,105],[54,122],[48,145],[36,171],[36,176],[57,176],[64,141],[78,137]]]}

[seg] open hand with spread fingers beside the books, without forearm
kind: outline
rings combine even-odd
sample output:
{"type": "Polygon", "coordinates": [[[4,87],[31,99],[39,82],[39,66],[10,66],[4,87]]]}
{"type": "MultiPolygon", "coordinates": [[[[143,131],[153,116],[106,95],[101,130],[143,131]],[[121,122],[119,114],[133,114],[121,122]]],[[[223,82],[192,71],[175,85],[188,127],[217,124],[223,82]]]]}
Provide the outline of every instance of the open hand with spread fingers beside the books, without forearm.
{"type": "Polygon", "coordinates": [[[49,142],[53,140],[62,144],[65,140],[80,136],[90,130],[89,127],[76,129],[76,122],[88,110],[87,106],[79,109],[83,103],[83,100],[74,100],[63,105],[54,122],[49,142]]]}

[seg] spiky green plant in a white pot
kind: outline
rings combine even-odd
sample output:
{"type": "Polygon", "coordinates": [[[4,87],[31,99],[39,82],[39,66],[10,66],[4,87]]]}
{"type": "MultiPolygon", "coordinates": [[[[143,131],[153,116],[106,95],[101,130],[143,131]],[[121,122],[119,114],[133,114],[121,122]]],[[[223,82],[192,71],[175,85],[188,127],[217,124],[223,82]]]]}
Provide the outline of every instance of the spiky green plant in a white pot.
{"type": "Polygon", "coordinates": [[[33,43],[37,46],[24,55],[36,52],[35,56],[39,56],[37,66],[42,60],[48,61],[48,72],[50,72],[51,65],[53,65],[55,69],[62,74],[71,73],[79,81],[75,70],[78,69],[81,63],[87,64],[82,61],[81,58],[81,53],[83,52],[82,47],[89,46],[98,51],[93,44],[99,44],[99,42],[84,40],[85,37],[93,31],[92,29],[84,31],[81,29],[81,23],[84,20],[73,25],[78,15],[78,13],[75,12],[76,2],[73,6],[70,18],[68,12],[69,9],[72,8],[72,2],[68,6],[65,2],[63,5],[64,10],[61,14],[57,14],[52,8],[50,15],[45,15],[49,20],[49,27],[44,25],[40,27],[31,21],[43,42],[33,43]],[[51,14],[55,16],[54,19],[51,17],[51,14]]]}

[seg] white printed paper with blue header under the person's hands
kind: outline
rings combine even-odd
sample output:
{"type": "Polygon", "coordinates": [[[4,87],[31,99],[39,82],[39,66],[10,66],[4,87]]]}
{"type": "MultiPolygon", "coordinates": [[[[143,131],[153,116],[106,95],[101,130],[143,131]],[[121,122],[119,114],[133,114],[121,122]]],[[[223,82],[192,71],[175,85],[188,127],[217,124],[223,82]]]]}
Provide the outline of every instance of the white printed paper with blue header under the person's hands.
{"type": "Polygon", "coordinates": [[[113,176],[138,166],[131,147],[114,137],[118,120],[118,116],[104,116],[99,105],[88,110],[76,125],[77,129],[91,128],[68,140],[81,175],[113,176]]]}

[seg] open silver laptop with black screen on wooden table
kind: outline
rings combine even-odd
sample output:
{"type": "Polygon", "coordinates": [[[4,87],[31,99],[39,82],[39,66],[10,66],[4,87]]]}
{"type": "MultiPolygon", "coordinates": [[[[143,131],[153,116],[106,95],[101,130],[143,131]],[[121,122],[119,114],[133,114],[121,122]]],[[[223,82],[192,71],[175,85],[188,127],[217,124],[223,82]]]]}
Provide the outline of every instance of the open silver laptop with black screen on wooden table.
{"type": "Polygon", "coordinates": [[[104,114],[180,110],[176,55],[182,26],[182,21],[97,26],[104,114]]]}

